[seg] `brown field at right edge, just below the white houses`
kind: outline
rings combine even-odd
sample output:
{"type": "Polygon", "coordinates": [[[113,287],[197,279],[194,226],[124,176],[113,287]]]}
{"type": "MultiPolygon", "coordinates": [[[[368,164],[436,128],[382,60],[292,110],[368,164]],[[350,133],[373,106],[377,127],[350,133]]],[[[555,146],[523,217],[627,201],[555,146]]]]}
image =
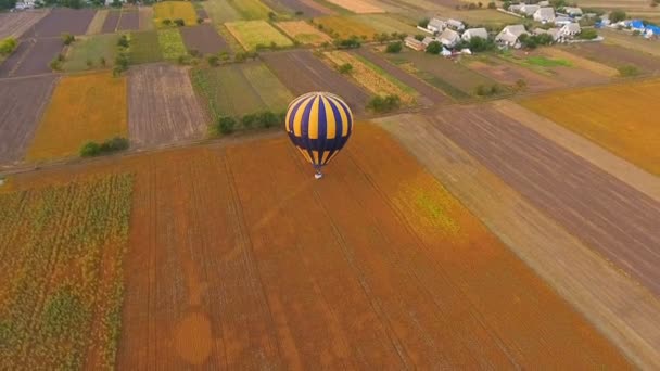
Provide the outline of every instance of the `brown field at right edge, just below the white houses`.
{"type": "Polygon", "coordinates": [[[585,42],[571,46],[571,48],[567,48],[566,51],[607,64],[614,68],[633,65],[636,66],[640,73],[660,73],[660,57],[614,44],[585,42]]]}

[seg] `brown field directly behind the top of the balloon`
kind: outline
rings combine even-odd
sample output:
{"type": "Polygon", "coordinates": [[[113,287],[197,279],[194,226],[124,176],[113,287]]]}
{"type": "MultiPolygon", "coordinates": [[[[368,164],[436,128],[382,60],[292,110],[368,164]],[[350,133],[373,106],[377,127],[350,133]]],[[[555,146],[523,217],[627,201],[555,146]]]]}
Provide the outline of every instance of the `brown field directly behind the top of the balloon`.
{"type": "Polygon", "coordinates": [[[367,92],[337,71],[330,69],[312,52],[296,50],[265,53],[262,57],[294,95],[309,91],[329,91],[341,95],[354,113],[365,111],[369,100],[367,92]]]}

